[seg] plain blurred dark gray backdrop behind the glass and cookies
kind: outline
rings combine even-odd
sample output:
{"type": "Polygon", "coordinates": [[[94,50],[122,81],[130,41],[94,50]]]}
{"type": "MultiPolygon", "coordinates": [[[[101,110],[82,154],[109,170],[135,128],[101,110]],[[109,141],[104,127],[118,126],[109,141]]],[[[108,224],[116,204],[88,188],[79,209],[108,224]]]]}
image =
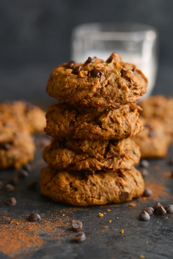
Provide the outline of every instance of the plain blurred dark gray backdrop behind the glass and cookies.
{"type": "Polygon", "coordinates": [[[45,87],[50,71],[70,59],[70,35],[85,22],[126,21],[152,25],[159,32],[156,93],[172,90],[172,0],[2,0],[1,95],[34,103],[56,102],[45,87]]]}

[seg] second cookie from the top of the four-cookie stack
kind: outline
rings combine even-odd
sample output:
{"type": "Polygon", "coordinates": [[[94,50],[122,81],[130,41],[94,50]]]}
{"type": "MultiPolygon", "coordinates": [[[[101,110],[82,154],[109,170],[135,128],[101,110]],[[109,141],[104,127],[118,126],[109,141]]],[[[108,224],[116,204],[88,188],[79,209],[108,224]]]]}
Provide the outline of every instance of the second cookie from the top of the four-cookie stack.
{"type": "Polygon", "coordinates": [[[50,136],[78,139],[124,139],[141,132],[136,104],[121,107],[82,107],[53,104],[46,113],[45,132],[50,136]]]}

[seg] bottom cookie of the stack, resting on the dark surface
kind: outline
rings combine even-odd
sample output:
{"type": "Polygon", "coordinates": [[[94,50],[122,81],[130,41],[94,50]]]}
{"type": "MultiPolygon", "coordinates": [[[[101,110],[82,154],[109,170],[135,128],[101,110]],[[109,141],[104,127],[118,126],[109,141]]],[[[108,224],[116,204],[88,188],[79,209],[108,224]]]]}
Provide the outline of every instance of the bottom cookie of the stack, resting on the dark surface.
{"type": "Polygon", "coordinates": [[[61,171],[42,168],[41,193],[49,198],[74,206],[119,203],[139,197],[144,191],[141,173],[130,170],[61,171]]]}

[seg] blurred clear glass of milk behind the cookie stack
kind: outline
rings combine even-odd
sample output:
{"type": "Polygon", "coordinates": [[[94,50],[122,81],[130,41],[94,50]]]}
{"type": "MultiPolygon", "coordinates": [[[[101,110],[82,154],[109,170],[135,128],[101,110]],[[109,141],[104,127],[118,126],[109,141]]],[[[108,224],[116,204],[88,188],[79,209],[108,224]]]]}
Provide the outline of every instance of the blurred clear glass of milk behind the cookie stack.
{"type": "MultiPolygon", "coordinates": [[[[71,35],[71,60],[84,62],[88,57],[106,61],[112,52],[124,62],[133,63],[148,77],[151,94],[157,75],[157,31],[137,23],[86,23],[75,27],[71,35]]],[[[141,98],[140,98],[141,99],[141,98]]]]}

